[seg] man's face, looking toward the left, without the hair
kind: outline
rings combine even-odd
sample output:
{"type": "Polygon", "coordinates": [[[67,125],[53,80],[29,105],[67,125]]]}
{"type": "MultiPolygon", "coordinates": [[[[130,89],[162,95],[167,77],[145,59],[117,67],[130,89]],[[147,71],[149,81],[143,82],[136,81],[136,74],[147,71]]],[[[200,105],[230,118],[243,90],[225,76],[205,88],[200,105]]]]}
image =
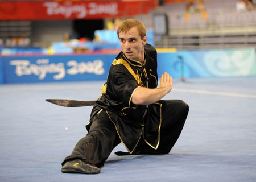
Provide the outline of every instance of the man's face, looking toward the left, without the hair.
{"type": "Polygon", "coordinates": [[[144,45],[147,43],[147,37],[141,39],[137,27],[131,28],[129,31],[119,32],[120,46],[123,53],[128,59],[133,59],[143,63],[144,61],[144,45]]]}

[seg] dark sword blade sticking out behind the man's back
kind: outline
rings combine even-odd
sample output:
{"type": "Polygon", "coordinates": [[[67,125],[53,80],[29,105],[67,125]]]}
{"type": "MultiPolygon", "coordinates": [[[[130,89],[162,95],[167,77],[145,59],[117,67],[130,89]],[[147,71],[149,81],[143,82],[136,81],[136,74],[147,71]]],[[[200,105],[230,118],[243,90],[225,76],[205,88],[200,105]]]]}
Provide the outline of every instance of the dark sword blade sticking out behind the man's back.
{"type": "Polygon", "coordinates": [[[46,99],[46,101],[63,107],[84,107],[96,104],[96,101],[76,101],[68,99],[46,99]]]}

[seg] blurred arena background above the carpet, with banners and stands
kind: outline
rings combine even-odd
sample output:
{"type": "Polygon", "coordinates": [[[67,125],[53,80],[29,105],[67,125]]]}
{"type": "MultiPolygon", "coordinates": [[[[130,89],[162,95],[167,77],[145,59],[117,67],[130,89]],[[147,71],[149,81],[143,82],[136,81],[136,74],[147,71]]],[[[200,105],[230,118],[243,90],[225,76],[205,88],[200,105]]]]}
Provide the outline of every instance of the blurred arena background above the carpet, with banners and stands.
{"type": "Polygon", "coordinates": [[[98,76],[91,63],[108,72],[127,18],[146,26],[159,71],[168,64],[174,77],[256,75],[255,0],[9,0],[0,2],[0,82],[90,80],[98,76]],[[52,78],[61,68],[65,76],[52,78]]]}

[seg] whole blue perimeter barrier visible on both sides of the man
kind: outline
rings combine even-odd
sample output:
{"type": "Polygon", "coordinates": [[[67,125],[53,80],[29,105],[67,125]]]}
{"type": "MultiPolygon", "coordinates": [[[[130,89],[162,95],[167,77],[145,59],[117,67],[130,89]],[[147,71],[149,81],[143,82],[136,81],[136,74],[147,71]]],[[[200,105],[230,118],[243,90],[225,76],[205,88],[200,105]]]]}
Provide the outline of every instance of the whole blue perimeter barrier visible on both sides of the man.
{"type": "MultiPolygon", "coordinates": [[[[106,80],[117,54],[1,57],[0,84],[106,80]]],[[[174,78],[256,76],[253,48],[158,53],[158,76],[174,78]]]]}

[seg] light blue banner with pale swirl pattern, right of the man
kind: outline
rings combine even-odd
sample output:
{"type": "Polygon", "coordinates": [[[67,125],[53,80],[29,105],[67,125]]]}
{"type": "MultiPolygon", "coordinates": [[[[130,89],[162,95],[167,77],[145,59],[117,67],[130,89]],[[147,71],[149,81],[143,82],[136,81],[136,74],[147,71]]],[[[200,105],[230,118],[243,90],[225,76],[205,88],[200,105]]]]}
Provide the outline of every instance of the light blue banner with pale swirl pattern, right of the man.
{"type": "Polygon", "coordinates": [[[178,51],[158,54],[158,74],[172,77],[256,76],[253,48],[207,51],[178,51]]]}

